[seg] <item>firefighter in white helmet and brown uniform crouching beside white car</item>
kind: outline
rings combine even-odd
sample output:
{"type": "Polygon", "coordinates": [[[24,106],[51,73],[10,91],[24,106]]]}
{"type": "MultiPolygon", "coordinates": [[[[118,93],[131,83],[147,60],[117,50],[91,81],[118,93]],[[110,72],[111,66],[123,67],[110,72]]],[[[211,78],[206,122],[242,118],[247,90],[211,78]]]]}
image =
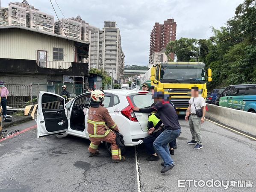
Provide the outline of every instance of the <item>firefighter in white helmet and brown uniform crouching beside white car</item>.
{"type": "Polygon", "coordinates": [[[123,162],[125,157],[121,155],[121,150],[116,144],[116,134],[114,132],[119,132],[119,129],[109,115],[109,111],[102,105],[104,97],[105,95],[101,90],[94,90],[91,93],[87,120],[88,134],[91,141],[88,148],[89,157],[98,155],[99,151],[97,148],[102,141],[105,141],[111,143],[112,162],[123,162]]]}

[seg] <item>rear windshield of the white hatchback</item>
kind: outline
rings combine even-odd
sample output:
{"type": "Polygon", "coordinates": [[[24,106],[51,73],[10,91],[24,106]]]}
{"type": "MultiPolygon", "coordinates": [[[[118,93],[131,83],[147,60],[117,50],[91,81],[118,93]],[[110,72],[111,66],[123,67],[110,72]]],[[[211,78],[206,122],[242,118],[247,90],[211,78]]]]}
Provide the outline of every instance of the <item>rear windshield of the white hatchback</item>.
{"type": "Polygon", "coordinates": [[[139,94],[129,96],[132,101],[132,104],[138,108],[150,107],[154,100],[152,99],[151,94],[139,94]]]}

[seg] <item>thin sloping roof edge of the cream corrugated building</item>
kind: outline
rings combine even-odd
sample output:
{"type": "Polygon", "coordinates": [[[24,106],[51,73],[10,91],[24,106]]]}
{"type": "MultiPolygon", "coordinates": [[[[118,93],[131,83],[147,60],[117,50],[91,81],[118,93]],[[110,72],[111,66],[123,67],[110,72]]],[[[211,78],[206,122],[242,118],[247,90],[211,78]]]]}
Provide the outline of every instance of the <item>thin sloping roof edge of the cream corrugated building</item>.
{"type": "MultiPolygon", "coordinates": [[[[26,30],[26,31],[32,31],[32,32],[37,32],[37,33],[41,33],[41,34],[45,34],[45,35],[50,35],[50,36],[57,37],[57,38],[67,39],[67,37],[63,36],[63,35],[57,35],[57,34],[50,33],[50,32],[44,32],[44,31],[41,31],[41,30],[35,30],[35,29],[28,28],[28,27],[24,27],[24,26],[0,26],[0,30],[1,29],[23,29],[23,30],[26,30]]],[[[88,41],[77,40],[77,39],[69,38],[69,37],[68,37],[68,40],[89,45],[88,41]]]]}

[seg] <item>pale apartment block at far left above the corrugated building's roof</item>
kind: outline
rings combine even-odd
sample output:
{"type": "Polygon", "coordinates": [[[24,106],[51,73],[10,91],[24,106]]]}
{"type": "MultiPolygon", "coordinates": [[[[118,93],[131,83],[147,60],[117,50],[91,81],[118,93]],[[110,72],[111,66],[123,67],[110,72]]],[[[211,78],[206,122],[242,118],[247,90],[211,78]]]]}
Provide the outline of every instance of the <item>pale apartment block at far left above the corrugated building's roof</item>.
{"type": "Polygon", "coordinates": [[[4,25],[26,26],[53,33],[54,17],[53,15],[40,12],[39,9],[36,9],[34,6],[29,5],[26,0],[23,0],[22,3],[11,2],[8,8],[2,7],[0,9],[0,26],[4,25]]]}

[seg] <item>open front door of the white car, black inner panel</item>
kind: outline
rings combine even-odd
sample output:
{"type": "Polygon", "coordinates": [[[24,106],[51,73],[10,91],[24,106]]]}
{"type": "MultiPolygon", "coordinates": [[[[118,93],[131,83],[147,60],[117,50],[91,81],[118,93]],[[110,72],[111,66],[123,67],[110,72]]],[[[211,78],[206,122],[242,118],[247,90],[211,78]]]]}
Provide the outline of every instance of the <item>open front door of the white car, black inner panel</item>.
{"type": "Polygon", "coordinates": [[[37,110],[37,137],[63,133],[68,128],[65,99],[55,93],[40,91],[37,110]]]}

